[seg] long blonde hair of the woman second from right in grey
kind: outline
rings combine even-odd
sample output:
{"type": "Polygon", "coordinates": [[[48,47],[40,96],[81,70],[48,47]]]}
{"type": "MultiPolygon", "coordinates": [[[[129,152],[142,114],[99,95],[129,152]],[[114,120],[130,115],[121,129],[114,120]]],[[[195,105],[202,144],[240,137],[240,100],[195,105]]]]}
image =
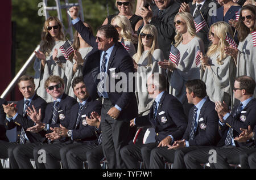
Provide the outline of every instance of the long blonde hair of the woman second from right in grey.
{"type": "Polygon", "coordinates": [[[210,57],[216,52],[220,52],[220,55],[217,57],[217,63],[219,65],[223,65],[222,60],[226,58],[226,54],[224,53],[225,46],[229,46],[229,43],[225,40],[226,38],[226,32],[229,32],[229,35],[233,38],[233,31],[231,26],[226,22],[216,22],[210,26],[209,30],[209,38],[210,34],[212,32],[212,28],[214,27],[214,36],[217,36],[220,38],[220,41],[218,41],[218,44],[212,44],[208,48],[207,56],[210,57]]]}

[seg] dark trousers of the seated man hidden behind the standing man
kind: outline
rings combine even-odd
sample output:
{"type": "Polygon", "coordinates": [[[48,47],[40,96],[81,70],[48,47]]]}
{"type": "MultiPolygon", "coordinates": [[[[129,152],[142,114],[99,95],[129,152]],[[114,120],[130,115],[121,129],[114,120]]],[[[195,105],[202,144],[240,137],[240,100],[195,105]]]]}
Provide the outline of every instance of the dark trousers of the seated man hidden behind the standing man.
{"type": "Polygon", "coordinates": [[[89,169],[100,169],[100,161],[104,158],[101,145],[87,144],[72,148],[67,152],[70,169],[82,169],[83,162],[88,161],[89,169]]]}

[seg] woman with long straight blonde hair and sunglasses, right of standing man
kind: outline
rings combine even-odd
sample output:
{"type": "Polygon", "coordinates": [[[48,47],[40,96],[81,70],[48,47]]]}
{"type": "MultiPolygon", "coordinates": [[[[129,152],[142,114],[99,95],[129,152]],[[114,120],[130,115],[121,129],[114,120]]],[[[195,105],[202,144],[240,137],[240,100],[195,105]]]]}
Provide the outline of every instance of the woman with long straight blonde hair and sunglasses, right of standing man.
{"type": "Polygon", "coordinates": [[[147,115],[154,100],[148,98],[147,78],[154,72],[164,75],[164,70],[158,66],[163,60],[163,52],[158,49],[158,32],[154,25],[144,25],[139,34],[138,51],[133,56],[137,70],[135,95],[138,102],[139,115],[147,115]]]}

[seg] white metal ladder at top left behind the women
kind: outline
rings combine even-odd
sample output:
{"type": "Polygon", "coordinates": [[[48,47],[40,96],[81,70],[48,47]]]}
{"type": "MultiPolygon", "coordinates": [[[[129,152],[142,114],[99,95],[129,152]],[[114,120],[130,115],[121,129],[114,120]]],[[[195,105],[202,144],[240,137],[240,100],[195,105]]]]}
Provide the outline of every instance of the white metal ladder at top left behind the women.
{"type": "Polygon", "coordinates": [[[46,19],[49,18],[49,13],[48,11],[55,11],[57,10],[57,15],[60,20],[60,22],[63,24],[63,18],[61,14],[61,9],[65,9],[65,14],[67,15],[68,19],[68,27],[65,28],[63,24],[63,33],[65,36],[69,35],[71,38],[71,41],[73,40],[73,28],[72,28],[72,22],[71,22],[71,17],[68,15],[67,11],[69,10],[70,7],[72,6],[78,6],[79,7],[79,16],[82,22],[84,22],[84,13],[82,10],[82,0],[78,0],[78,3],[69,3],[68,0],[65,0],[64,5],[60,5],[60,0],[55,0],[56,6],[47,6],[47,0],[43,0],[43,11],[46,19]]]}

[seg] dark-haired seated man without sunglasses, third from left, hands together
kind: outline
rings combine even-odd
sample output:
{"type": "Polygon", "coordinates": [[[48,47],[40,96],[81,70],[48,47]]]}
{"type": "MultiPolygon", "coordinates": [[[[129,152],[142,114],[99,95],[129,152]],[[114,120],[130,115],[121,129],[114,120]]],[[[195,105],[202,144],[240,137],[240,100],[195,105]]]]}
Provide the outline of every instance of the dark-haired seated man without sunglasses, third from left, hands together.
{"type": "Polygon", "coordinates": [[[79,98],[79,103],[72,106],[71,113],[66,115],[63,121],[60,122],[60,127],[55,127],[53,132],[46,135],[50,140],[64,137],[68,141],[46,144],[40,148],[40,150],[46,151],[46,162],[44,165],[47,169],[60,168],[60,160],[63,165],[62,167],[67,169],[66,154],[69,149],[85,144],[97,143],[95,128],[88,125],[86,117],[90,117],[92,112],[100,114],[101,103],[89,97],[82,77],[77,77],[73,80],[72,88],[77,98],[79,98]]]}

